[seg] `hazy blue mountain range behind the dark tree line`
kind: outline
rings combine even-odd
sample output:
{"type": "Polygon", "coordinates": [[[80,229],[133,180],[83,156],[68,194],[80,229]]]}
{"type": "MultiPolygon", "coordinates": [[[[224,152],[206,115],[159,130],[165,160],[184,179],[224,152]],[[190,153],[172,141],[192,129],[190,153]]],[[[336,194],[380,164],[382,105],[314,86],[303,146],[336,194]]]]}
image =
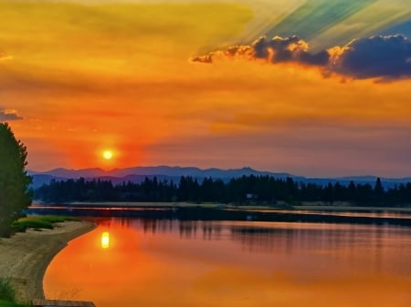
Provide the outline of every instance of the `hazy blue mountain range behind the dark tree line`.
{"type": "MultiPolygon", "coordinates": [[[[170,167],[170,166],[155,166],[155,167],[132,167],[125,169],[51,169],[48,171],[34,171],[27,170],[27,174],[33,177],[32,188],[36,189],[43,184],[49,183],[52,179],[67,180],[67,179],[101,179],[111,180],[113,184],[120,184],[122,182],[132,181],[134,183],[142,182],[146,177],[158,180],[174,180],[178,183],[182,176],[191,176],[201,182],[205,178],[229,179],[255,175],[255,176],[272,176],[276,179],[291,178],[295,181],[305,183],[315,183],[319,185],[326,185],[328,183],[340,182],[342,185],[349,184],[351,181],[355,183],[369,183],[374,187],[375,176],[353,176],[353,177],[339,177],[339,178],[306,178],[303,176],[296,176],[289,173],[277,173],[269,171],[260,171],[251,168],[242,169],[198,169],[195,167],[170,167]]],[[[401,179],[381,178],[385,188],[394,187],[400,183],[411,182],[411,177],[401,179]]]]}

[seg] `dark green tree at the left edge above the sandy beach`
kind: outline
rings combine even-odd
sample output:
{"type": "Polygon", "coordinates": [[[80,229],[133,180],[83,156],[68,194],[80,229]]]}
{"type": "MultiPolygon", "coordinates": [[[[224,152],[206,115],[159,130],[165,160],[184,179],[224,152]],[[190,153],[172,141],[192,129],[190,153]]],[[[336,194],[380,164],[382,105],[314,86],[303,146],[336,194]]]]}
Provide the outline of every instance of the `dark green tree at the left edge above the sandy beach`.
{"type": "Polygon", "coordinates": [[[7,123],[0,123],[0,236],[10,236],[13,221],[31,202],[26,156],[26,146],[7,123]]]}

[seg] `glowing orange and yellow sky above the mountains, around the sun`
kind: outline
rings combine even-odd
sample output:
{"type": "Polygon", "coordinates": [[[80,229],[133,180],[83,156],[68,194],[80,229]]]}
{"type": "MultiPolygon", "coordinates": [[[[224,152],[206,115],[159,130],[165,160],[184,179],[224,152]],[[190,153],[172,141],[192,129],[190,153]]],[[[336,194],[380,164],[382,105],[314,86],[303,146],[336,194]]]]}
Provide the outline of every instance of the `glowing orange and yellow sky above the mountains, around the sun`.
{"type": "MultiPolygon", "coordinates": [[[[409,77],[325,76],[320,67],[263,59],[189,60],[272,29],[288,35],[274,12],[283,7],[295,19],[303,2],[287,3],[1,0],[0,118],[26,144],[35,170],[167,164],[411,175],[409,77]],[[105,149],[111,160],[102,159],[105,149]]],[[[400,26],[406,2],[390,3],[400,26]]],[[[342,29],[358,18],[366,21],[364,37],[382,33],[396,25],[375,24],[387,4],[355,6],[302,38],[320,49],[344,46],[356,37],[342,29]]]]}

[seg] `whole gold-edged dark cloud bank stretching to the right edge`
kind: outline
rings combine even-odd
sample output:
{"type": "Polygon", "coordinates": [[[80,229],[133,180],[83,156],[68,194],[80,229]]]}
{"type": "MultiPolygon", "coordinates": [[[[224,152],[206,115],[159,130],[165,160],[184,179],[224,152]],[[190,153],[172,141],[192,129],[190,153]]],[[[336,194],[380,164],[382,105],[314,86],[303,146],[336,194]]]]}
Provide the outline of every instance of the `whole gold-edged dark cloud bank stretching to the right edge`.
{"type": "Polygon", "coordinates": [[[359,79],[411,77],[411,41],[402,35],[354,39],[345,46],[318,53],[311,53],[309,45],[299,36],[271,39],[261,36],[249,46],[229,46],[226,50],[192,57],[191,61],[213,63],[221,57],[263,59],[270,64],[297,63],[321,67],[326,74],[359,79]]]}

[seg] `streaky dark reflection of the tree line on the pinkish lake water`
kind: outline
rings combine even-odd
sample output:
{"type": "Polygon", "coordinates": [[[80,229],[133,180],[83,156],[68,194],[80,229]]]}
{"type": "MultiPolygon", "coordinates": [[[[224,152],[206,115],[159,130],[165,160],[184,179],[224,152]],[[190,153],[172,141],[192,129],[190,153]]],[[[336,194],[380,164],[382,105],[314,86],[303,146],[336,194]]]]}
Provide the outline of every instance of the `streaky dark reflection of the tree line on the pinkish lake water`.
{"type": "MultiPolygon", "coordinates": [[[[370,261],[381,265],[385,239],[404,235],[405,228],[378,225],[258,223],[212,220],[114,219],[122,227],[141,229],[145,234],[177,233],[181,240],[230,240],[238,242],[244,251],[297,254],[301,251],[326,253],[340,258],[355,258],[364,246],[372,247],[370,261]]],[[[371,264],[371,263],[370,263],[371,264]]]]}

